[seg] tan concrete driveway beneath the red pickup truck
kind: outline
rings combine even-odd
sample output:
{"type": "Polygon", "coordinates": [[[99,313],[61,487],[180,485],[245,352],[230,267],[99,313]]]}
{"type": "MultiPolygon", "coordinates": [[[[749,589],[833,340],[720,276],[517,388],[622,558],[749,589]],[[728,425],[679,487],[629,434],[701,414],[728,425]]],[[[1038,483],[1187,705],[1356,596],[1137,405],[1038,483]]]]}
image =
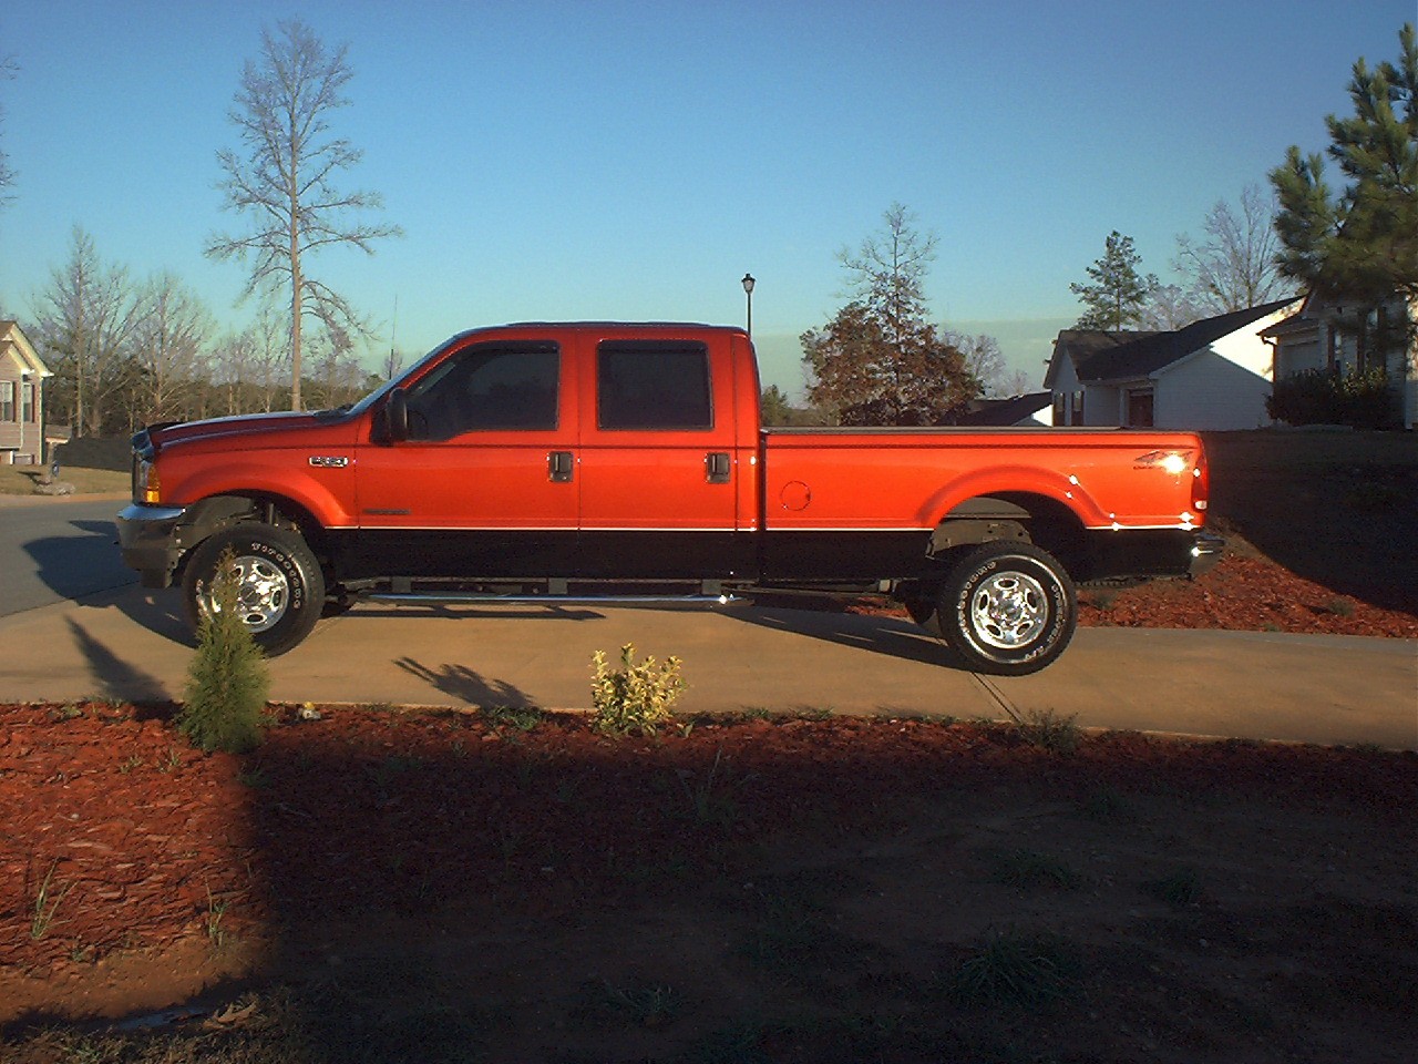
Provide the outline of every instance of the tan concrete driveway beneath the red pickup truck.
{"type": "MultiPolygon", "coordinates": [[[[766,708],[1078,724],[1418,749],[1418,643],[1083,628],[1032,677],[978,677],[892,619],[744,606],[360,606],[271,663],[284,702],[584,708],[591,654],[679,655],[685,712],[766,708]]],[[[0,619],[0,701],[180,698],[179,594],[126,587],[0,619]]]]}

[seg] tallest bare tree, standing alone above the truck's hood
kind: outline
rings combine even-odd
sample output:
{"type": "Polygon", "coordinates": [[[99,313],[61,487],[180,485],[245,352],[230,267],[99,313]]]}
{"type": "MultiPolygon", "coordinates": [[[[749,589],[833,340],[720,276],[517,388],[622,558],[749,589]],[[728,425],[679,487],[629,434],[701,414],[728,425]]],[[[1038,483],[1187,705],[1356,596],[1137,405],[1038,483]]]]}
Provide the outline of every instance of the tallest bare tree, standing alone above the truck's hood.
{"type": "MultiPolygon", "coordinates": [[[[244,298],[254,292],[289,292],[291,407],[301,409],[301,329],[306,315],[335,338],[363,332],[350,304],[311,275],[306,257],[330,245],[373,254],[373,243],[398,235],[397,226],[349,223],[350,211],[377,209],[373,192],[337,192],[333,177],[354,166],[363,152],[330,135],[330,113],[349,105],[343,89],[353,77],[347,48],[326,51],[302,21],[262,30],[261,58],[248,61],[231,122],[244,155],[218,152],[227,174],[225,206],[251,220],[244,235],[218,234],[207,243],[213,258],[252,260],[244,298]]],[[[347,340],[343,340],[347,343],[347,340]]]]}

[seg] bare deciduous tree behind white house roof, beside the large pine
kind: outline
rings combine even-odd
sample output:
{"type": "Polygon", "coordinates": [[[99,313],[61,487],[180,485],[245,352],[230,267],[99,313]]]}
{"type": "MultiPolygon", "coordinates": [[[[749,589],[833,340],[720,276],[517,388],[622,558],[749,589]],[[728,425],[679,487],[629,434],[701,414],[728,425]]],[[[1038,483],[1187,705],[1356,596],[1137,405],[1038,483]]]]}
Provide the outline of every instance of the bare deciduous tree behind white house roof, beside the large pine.
{"type": "Polygon", "coordinates": [[[1205,314],[1245,311],[1289,291],[1278,261],[1276,210],[1273,194],[1248,184],[1239,211],[1225,200],[1211,207],[1202,226],[1205,240],[1177,237],[1171,267],[1188,279],[1191,298],[1205,314]]]}

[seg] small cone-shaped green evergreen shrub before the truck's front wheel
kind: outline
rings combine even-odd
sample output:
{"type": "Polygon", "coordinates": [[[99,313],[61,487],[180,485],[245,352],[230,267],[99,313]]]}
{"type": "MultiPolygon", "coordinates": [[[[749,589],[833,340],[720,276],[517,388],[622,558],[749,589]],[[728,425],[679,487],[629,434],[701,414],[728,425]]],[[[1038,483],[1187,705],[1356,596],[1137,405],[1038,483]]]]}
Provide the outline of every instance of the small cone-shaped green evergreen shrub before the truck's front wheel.
{"type": "Polygon", "coordinates": [[[245,753],[261,742],[271,677],[265,655],[237,610],[235,558],[225,550],[211,582],[216,610],[203,617],[187,667],[177,729],[203,752],[245,753]]]}

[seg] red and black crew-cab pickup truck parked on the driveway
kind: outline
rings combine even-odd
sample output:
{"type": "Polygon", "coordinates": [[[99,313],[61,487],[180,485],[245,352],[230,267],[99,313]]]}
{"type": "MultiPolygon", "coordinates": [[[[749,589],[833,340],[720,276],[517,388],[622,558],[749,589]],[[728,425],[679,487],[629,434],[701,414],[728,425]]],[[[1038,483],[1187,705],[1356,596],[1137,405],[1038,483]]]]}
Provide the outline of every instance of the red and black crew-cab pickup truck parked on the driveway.
{"type": "Polygon", "coordinates": [[[1012,675],[1068,645],[1075,583],[1219,549],[1194,434],[763,428],[759,394],[742,329],[476,329],[349,407],[145,428],[119,543],[194,624],[230,548],[269,654],[366,597],[876,592],[1012,675]]]}

